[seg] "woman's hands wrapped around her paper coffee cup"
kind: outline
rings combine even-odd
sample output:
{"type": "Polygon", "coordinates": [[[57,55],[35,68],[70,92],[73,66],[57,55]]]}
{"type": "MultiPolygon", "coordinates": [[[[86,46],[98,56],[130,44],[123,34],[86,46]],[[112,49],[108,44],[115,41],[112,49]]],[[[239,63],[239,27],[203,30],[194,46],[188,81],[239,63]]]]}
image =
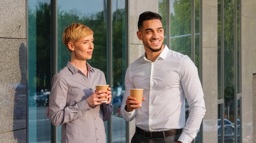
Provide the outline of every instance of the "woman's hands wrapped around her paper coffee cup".
{"type": "MultiPolygon", "coordinates": [[[[102,103],[100,103],[101,101],[109,100],[109,98],[100,98],[103,96],[109,97],[109,95],[107,94],[109,92],[111,94],[111,91],[106,91],[106,90],[96,91],[96,92],[92,93],[92,95],[90,95],[88,98],[86,98],[86,101],[90,107],[95,106],[95,105],[100,105],[100,104],[102,104],[102,103]]],[[[111,101],[111,95],[110,95],[110,101],[111,101]]]]}

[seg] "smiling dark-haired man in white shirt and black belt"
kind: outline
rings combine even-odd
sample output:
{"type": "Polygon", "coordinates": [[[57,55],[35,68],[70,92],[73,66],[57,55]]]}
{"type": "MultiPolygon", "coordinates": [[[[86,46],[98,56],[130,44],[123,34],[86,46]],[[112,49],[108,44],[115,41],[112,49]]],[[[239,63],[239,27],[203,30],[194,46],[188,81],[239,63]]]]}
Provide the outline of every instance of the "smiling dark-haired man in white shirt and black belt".
{"type": "Polygon", "coordinates": [[[190,143],[206,111],[197,68],[188,56],[163,45],[161,20],[150,11],[139,15],[137,37],[145,54],[126,71],[121,106],[126,121],[136,118],[132,143],[190,143]],[[144,89],[142,106],[130,96],[134,88],[144,89]],[[186,126],[185,98],[191,108],[186,126]]]}

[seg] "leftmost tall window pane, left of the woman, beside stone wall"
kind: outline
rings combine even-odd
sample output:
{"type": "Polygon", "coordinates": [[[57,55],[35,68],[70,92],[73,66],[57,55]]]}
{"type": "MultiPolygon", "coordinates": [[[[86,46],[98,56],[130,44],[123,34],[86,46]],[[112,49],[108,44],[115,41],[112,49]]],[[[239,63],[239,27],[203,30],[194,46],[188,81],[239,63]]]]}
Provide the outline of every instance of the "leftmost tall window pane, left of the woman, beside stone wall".
{"type": "Polygon", "coordinates": [[[47,106],[52,80],[51,3],[29,0],[28,6],[29,143],[50,143],[47,106]]]}

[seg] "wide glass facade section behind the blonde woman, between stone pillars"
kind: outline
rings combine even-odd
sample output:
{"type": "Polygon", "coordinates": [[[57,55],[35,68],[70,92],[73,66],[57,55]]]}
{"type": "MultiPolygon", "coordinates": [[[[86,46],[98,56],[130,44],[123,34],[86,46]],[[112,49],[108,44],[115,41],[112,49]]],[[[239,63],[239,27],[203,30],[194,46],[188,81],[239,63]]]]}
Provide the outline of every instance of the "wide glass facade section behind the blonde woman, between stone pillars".
{"type": "Polygon", "coordinates": [[[94,31],[94,54],[87,62],[103,71],[112,88],[114,112],[110,120],[104,122],[106,141],[125,143],[126,121],[120,116],[127,67],[125,0],[112,0],[111,3],[107,0],[59,0],[56,3],[54,19],[51,0],[28,0],[29,142],[61,141],[61,126],[56,127],[55,133],[48,117],[49,93],[54,69],[58,72],[71,58],[62,43],[62,33],[68,25],[79,22],[94,31]],[[52,40],[54,29],[57,29],[57,41],[52,40]],[[113,33],[111,38],[108,37],[110,33],[113,33]],[[53,45],[57,45],[56,49],[53,45]],[[58,51],[55,57],[54,50],[58,51]],[[54,62],[56,67],[53,67],[54,62]]]}

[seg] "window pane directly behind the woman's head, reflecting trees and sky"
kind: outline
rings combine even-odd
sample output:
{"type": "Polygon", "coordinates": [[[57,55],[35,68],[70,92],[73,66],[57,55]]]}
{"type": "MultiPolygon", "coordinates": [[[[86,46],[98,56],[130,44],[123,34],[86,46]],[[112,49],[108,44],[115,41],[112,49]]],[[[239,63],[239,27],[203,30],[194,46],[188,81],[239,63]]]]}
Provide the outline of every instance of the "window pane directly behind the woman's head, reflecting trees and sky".
{"type": "MultiPolygon", "coordinates": [[[[94,32],[94,50],[92,59],[87,62],[104,72],[107,78],[107,38],[106,0],[59,0],[58,1],[58,70],[70,60],[70,52],[62,43],[64,29],[72,23],[81,23],[94,32]]],[[[104,122],[106,136],[107,122],[104,122]]],[[[58,142],[61,141],[61,127],[58,127],[58,142]]]]}

